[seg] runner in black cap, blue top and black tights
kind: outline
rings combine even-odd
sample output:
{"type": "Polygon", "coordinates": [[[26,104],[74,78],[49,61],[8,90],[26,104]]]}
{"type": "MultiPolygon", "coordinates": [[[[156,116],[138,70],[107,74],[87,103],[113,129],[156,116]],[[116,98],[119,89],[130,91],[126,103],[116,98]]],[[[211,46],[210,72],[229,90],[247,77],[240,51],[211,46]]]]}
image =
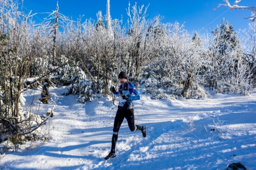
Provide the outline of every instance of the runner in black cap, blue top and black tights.
{"type": "Polygon", "coordinates": [[[124,118],[126,118],[130,131],[141,131],[143,137],[147,136],[146,127],[135,125],[134,126],[134,113],[133,113],[133,100],[139,100],[140,95],[133,85],[133,83],[127,81],[127,75],[125,71],[121,71],[118,75],[119,86],[118,92],[115,91],[115,88],[112,86],[110,91],[119,97],[118,110],[115,115],[112,142],[111,142],[111,151],[108,156],[105,157],[106,160],[114,158],[115,154],[115,145],[118,137],[118,132],[121,124],[123,123],[124,118]]]}

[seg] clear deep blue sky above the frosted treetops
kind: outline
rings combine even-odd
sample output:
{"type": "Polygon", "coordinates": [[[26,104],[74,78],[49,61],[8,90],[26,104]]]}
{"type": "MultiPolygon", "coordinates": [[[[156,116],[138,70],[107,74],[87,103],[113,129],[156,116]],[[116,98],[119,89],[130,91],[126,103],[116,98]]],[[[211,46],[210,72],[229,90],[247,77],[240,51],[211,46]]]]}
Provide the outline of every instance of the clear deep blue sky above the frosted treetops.
{"type": "MultiPolygon", "coordinates": [[[[164,17],[162,23],[177,21],[184,24],[184,28],[190,33],[195,31],[204,33],[205,29],[211,31],[220,25],[223,18],[232,24],[236,31],[248,28],[248,23],[251,22],[244,19],[251,15],[249,10],[230,11],[227,7],[213,10],[218,4],[223,4],[223,0],[110,0],[112,19],[121,19],[123,16],[123,19],[127,20],[126,9],[128,9],[129,1],[131,6],[137,2],[137,7],[143,4],[145,7],[149,4],[148,19],[160,15],[164,17]]],[[[59,12],[65,16],[72,16],[73,20],[76,20],[79,15],[84,15],[84,19],[96,19],[98,11],[105,15],[106,3],[107,0],[58,0],[59,12]]],[[[230,0],[230,3],[233,4],[234,0],[230,0]]],[[[56,4],[57,0],[24,0],[24,11],[52,12],[56,9],[56,4]]],[[[253,6],[254,4],[252,1],[242,0],[238,5],[253,6]]],[[[43,18],[43,15],[37,14],[36,17],[43,18]]],[[[34,17],[34,19],[38,18],[34,17]]]]}

